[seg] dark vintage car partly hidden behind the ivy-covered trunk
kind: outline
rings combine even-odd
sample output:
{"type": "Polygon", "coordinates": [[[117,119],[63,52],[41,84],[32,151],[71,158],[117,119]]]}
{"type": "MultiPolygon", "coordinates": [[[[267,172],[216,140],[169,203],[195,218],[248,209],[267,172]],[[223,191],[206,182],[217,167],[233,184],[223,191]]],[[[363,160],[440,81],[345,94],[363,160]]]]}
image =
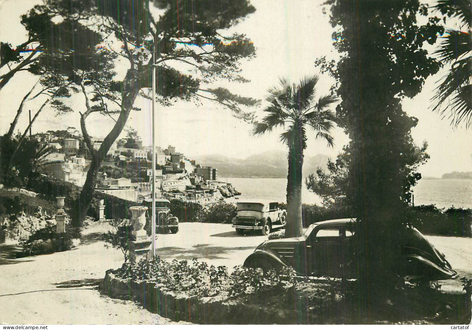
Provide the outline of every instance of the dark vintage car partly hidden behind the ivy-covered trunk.
{"type": "MultiPolygon", "coordinates": [[[[246,258],[244,266],[263,272],[292,266],[303,276],[356,278],[354,228],[355,219],[313,223],[301,237],[265,241],[246,258]]],[[[414,228],[409,228],[402,239],[402,259],[397,269],[405,280],[458,276],[445,256],[414,228]]]]}

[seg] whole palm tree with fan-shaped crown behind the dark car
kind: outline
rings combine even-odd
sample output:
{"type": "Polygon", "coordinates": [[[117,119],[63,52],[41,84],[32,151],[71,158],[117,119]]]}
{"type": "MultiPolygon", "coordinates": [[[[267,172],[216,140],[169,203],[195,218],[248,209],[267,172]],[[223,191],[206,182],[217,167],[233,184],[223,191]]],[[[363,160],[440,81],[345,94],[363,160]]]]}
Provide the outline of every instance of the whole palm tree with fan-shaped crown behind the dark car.
{"type": "Polygon", "coordinates": [[[280,79],[280,87],[269,89],[267,100],[270,105],[264,111],[267,115],[261,123],[254,124],[253,134],[261,135],[281,126],[285,132],[280,141],[288,146],[287,175],[287,229],[285,237],[302,235],[302,166],[303,150],[306,148],[305,127],[316,132],[316,138],[325,139],[333,146],[329,134],[333,127],[334,112],[328,110],[336,102],[334,95],[320,97],[316,102],[315,91],[318,76],[307,76],[298,85],[280,79]]]}

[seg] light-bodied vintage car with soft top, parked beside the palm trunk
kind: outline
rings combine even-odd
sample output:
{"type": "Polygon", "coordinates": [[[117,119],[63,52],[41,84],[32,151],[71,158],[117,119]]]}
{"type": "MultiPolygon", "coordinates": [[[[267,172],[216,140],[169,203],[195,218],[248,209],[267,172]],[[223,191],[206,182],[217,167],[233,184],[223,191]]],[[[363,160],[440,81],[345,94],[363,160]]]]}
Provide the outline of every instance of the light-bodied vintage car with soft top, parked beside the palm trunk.
{"type": "Polygon", "coordinates": [[[260,230],[262,235],[269,235],[272,229],[283,227],[287,223],[287,211],[282,210],[277,202],[237,202],[236,211],[233,227],[238,234],[251,229],[260,230]]]}

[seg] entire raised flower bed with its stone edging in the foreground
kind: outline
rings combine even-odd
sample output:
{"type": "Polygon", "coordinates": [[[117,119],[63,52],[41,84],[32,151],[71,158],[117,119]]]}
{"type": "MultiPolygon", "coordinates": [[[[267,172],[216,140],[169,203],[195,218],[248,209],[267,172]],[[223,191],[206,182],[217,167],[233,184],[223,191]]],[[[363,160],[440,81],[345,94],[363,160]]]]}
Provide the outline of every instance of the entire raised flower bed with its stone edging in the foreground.
{"type": "Polygon", "coordinates": [[[291,268],[262,274],[236,266],[228,273],[196,259],[169,263],[159,257],[107,271],[101,288],[152,313],[200,324],[459,324],[468,317],[471,291],[407,286],[388,299],[379,296],[366,318],[358,309],[356,281],[302,278],[291,268]]]}

